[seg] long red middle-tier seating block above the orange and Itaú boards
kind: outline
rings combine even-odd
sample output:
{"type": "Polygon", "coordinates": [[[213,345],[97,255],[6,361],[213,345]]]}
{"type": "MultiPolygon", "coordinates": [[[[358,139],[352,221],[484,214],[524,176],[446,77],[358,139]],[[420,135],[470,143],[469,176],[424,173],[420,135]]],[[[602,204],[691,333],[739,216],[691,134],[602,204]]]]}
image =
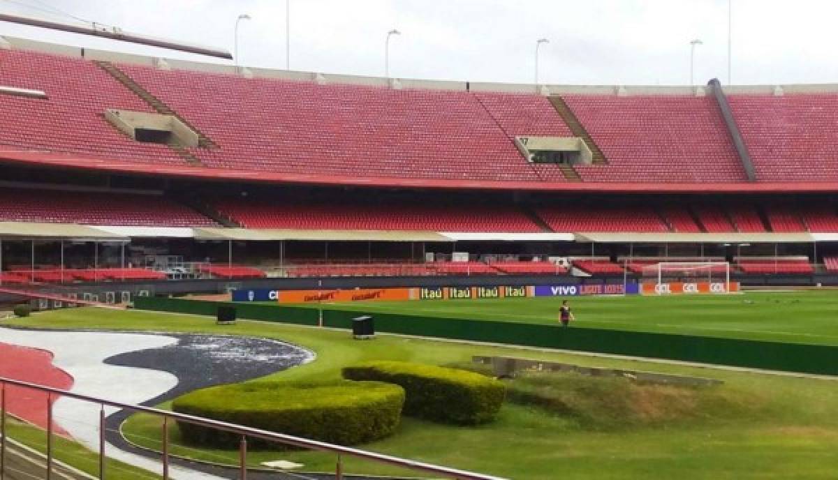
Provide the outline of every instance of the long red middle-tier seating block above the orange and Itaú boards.
{"type": "Polygon", "coordinates": [[[525,214],[506,206],[271,204],[238,199],[220,200],[215,206],[221,214],[254,229],[541,231],[525,214]]]}

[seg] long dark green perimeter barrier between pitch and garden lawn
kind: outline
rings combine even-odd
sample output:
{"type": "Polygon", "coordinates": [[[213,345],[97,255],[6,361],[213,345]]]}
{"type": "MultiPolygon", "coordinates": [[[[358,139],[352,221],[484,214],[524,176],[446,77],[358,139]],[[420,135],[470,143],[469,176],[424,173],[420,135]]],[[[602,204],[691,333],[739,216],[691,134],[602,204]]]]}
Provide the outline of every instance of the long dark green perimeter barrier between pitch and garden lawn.
{"type": "MultiPolygon", "coordinates": [[[[318,325],[314,308],[205,302],[137,297],[142,310],[215,316],[219,306],[236,307],[238,317],[266,322],[318,325]]],[[[351,328],[363,313],[323,310],[323,326],[351,328]]],[[[598,354],[671,359],[806,374],[838,374],[838,347],[716,338],[671,333],[646,333],[604,328],[561,328],[557,325],[505,323],[461,318],[375,313],[375,330],[430,338],[560,348],[598,354]]]]}

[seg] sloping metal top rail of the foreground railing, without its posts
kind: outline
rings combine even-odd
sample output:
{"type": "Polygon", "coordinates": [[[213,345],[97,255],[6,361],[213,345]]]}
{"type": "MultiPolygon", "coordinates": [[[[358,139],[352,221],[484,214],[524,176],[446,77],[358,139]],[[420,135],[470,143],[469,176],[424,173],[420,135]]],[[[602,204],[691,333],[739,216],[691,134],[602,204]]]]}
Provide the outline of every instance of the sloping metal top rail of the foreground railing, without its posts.
{"type": "MultiPolygon", "coordinates": [[[[187,423],[191,423],[198,426],[205,426],[215,428],[221,431],[228,431],[231,433],[235,433],[241,436],[251,436],[253,438],[259,438],[261,440],[266,441],[274,441],[277,443],[282,443],[286,445],[292,446],[299,446],[302,448],[306,448],[309,450],[318,450],[321,452],[331,452],[337,455],[346,455],[349,457],[357,457],[365,460],[369,460],[372,462],[379,462],[385,463],[396,467],[404,467],[411,470],[421,471],[421,472],[429,472],[436,475],[442,475],[443,477],[453,478],[457,480],[504,480],[503,477],[494,477],[491,475],[484,475],[482,473],[475,473],[475,472],[468,472],[465,470],[458,470],[456,468],[449,468],[449,467],[442,467],[439,465],[433,465],[431,463],[425,462],[416,462],[415,460],[409,460],[406,458],[401,457],[392,457],[390,455],[385,455],[382,453],[375,453],[375,452],[368,452],[365,450],[359,450],[357,448],[352,448],[350,446],[340,446],[334,445],[331,443],[327,443],[324,441],[316,441],[310,440],[308,438],[303,438],[300,436],[292,436],[287,435],[284,433],[277,433],[273,431],[265,431],[258,428],[252,428],[249,426],[241,426],[235,425],[232,423],[227,423],[225,421],[217,421],[212,420],[209,418],[203,418],[194,415],[186,415],[183,413],[168,411],[168,410],[160,410],[157,408],[143,406],[143,405],[133,405],[118,402],[115,400],[106,400],[99,397],[91,396],[91,395],[81,395],[74,392],[70,392],[67,390],[56,389],[54,387],[48,387],[45,385],[38,385],[33,384],[30,382],[25,382],[22,380],[16,379],[9,379],[6,377],[0,377],[0,386],[3,386],[3,397],[5,397],[5,385],[15,385],[18,387],[25,387],[33,390],[39,390],[46,392],[48,394],[55,394],[65,396],[75,400],[83,400],[86,402],[96,403],[98,405],[108,405],[112,407],[117,407],[120,409],[132,410],[137,412],[143,412],[151,415],[158,415],[162,416],[163,418],[173,419],[175,421],[184,421],[187,423]]],[[[5,398],[3,398],[5,400],[5,398]]],[[[3,401],[5,403],[5,401],[3,401]]],[[[5,407],[5,405],[3,405],[5,407]]],[[[5,409],[3,409],[5,410],[5,409]]]]}

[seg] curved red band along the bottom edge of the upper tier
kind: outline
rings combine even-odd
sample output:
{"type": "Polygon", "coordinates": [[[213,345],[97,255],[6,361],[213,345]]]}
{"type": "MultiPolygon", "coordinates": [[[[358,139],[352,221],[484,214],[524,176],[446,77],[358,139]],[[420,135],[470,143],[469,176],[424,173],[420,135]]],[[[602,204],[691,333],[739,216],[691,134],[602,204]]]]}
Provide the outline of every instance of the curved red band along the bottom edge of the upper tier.
{"type": "MultiPolygon", "coordinates": [[[[7,147],[8,148],[8,147],[7,147]]],[[[782,194],[838,193],[838,182],[758,182],[758,183],[620,183],[620,182],[524,182],[494,180],[456,180],[443,178],[378,178],[344,175],[265,172],[235,168],[205,168],[157,163],[137,163],[125,159],[79,156],[45,151],[21,151],[0,147],[0,162],[28,167],[64,168],[143,176],[190,178],[207,181],[248,183],[303,183],[386,188],[456,188],[473,190],[515,190],[568,193],[623,194],[782,194]]],[[[359,160],[359,163],[362,163],[359,160]]],[[[607,168],[607,167],[603,167],[607,168]]]]}

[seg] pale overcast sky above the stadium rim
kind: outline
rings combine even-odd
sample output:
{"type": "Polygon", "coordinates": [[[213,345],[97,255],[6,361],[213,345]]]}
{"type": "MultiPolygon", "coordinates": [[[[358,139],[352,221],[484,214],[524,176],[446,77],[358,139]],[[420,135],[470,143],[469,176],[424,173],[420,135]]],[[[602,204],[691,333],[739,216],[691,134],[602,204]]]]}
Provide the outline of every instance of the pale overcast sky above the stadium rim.
{"type": "MultiPolygon", "coordinates": [[[[289,0],[291,68],[402,78],[553,84],[727,83],[728,0],[289,0]]],[[[241,65],[285,68],[286,0],[0,0],[0,12],[72,21],[233,50],[241,65]]],[[[838,2],[732,0],[732,83],[838,82],[838,2]]],[[[0,22],[0,35],[173,58],[205,59],[0,22]]]]}

